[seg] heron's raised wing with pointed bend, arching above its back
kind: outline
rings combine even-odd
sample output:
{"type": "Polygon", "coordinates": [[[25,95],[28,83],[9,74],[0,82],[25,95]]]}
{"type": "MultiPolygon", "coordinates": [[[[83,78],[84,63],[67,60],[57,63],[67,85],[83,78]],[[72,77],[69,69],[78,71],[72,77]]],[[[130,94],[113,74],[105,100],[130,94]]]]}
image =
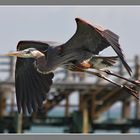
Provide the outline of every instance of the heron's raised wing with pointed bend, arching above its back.
{"type": "Polygon", "coordinates": [[[92,26],[79,18],[76,18],[75,20],[77,23],[77,30],[72,38],[65,43],[66,49],[84,49],[97,55],[100,51],[111,46],[121,59],[128,73],[131,75],[132,70],[124,59],[118,35],[110,30],[103,29],[102,27],[92,26]]]}

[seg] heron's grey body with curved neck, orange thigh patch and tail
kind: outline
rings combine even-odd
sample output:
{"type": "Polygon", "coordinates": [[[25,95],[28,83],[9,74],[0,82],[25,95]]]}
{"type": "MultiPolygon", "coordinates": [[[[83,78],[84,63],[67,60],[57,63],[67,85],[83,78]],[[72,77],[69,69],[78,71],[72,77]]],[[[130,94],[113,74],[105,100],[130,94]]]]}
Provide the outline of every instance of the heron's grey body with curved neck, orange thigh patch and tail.
{"type": "MultiPolygon", "coordinates": [[[[29,43],[28,41],[26,41],[29,43]]],[[[22,42],[20,42],[22,43],[22,42]]],[[[25,43],[23,41],[23,43],[25,43]]],[[[36,43],[32,41],[32,43],[36,43]]],[[[46,42],[47,43],[47,42],[46,42]]],[[[47,44],[46,44],[47,45],[47,44]]],[[[73,50],[63,52],[63,45],[51,46],[48,48],[44,55],[38,57],[35,62],[35,67],[40,73],[53,72],[58,67],[65,67],[71,69],[71,66],[76,66],[83,69],[104,69],[113,66],[118,57],[102,57],[95,56],[86,50],[73,50]],[[79,55],[80,54],[80,55],[79,55]]],[[[73,69],[76,71],[76,69],[73,69]]]]}

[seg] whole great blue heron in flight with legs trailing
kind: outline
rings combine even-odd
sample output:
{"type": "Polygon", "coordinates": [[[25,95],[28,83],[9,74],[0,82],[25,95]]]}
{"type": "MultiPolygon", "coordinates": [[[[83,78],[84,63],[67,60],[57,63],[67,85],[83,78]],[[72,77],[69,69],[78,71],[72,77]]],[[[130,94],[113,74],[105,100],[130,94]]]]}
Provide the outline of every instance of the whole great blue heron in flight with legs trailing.
{"type": "Polygon", "coordinates": [[[138,81],[104,70],[113,66],[119,58],[126,71],[131,75],[131,68],[126,63],[119,44],[119,36],[108,29],[92,26],[86,21],[76,18],[77,30],[64,44],[54,45],[53,42],[20,41],[16,52],[7,56],[16,56],[15,88],[18,112],[37,111],[46,100],[46,94],[52,85],[53,71],[58,67],[68,70],[86,72],[107,80],[120,88],[124,88],[133,96],[137,92],[131,87],[118,84],[101,74],[101,71],[124,79],[134,85],[138,81]],[[100,56],[99,53],[111,46],[117,56],[100,56]],[[89,71],[96,69],[97,71],[89,71]]]}

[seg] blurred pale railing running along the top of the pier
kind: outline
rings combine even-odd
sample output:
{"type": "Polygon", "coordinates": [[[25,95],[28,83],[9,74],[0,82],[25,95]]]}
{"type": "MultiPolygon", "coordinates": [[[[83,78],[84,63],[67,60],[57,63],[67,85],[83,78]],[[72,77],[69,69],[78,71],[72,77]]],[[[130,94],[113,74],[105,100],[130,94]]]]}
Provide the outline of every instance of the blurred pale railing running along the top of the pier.
{"type": "MultiPolygon", "coordinates": [[[[140,65],[139,65],[139,57],[135,56],[134,59],[129,59],[127,61],[132,69],[132,78],[139,79],[140,75],[140,65]]],[[[122,66],[121,63],[117,63],[112,68],[110,68],[113,72],[120,74],[121,76],[129,77],[127,71],[122,66]]],[[[7,79],[12,79],[14,81],[14,71],[15,71],[15,58],[14,57],[2,57],[0,56],[0,82],[6,82],[7,79]]],[[[91,75],[86,73],[75,73],[71,71],[67,71],[63,68],[58,68],[55,71],[54,82],[60,81],[82,81],[86,82],[88,78],[91,78],[91,75]],[[79,78],[79,80],[77,80],[79,78]]],[[[113,78],[113,77],[112,77],[113,78]]],[[[99,79],[96,77],[93,78],[96,83],[99,79]]]]}

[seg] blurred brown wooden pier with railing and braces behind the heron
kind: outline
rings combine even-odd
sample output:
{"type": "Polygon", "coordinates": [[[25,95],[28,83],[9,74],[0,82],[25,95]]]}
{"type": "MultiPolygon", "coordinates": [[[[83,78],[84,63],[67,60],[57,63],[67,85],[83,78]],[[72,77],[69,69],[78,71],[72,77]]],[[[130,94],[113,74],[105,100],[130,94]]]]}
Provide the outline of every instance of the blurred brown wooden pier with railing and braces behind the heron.
{"type": "MultiPolygon", "coordinates": [[[[139,80],[139,57],[135,56],[128,62],[133,70],[131,78],[139,80]]],[[[54,83],[43,110],[27,116],[18,114],[15,102],[14,68],[13,57],[0,57],[0,133],[21,133],[33,125],[66,126],[67,133],[93,133],[96,130],[119,130],[126,133],[131,128],[140,128],[140,103],[129,93],[95,76],[64,69],[55,71],[54,83]],[[71,103],[73,94],[77,95],[76,104],[71,103]],[[103,113],[117,102],[122,104],[120,118],[98,121],[103,113]],[[135,104],[133,118],[130,114],[132,102],[135,104]],[[64,116],[48,115],[55,108],[63,109],[64,116]],[[76,109],[71,111],[71,108],[76,109]]],[[[112,70],[128,77],[122,64],[116,64],[112,70]]],[[[118,78],[113,80],[129,84],[118,78]]],[[[139,91],[138,87],[134,87],[136,88],[139,91]]]]}

